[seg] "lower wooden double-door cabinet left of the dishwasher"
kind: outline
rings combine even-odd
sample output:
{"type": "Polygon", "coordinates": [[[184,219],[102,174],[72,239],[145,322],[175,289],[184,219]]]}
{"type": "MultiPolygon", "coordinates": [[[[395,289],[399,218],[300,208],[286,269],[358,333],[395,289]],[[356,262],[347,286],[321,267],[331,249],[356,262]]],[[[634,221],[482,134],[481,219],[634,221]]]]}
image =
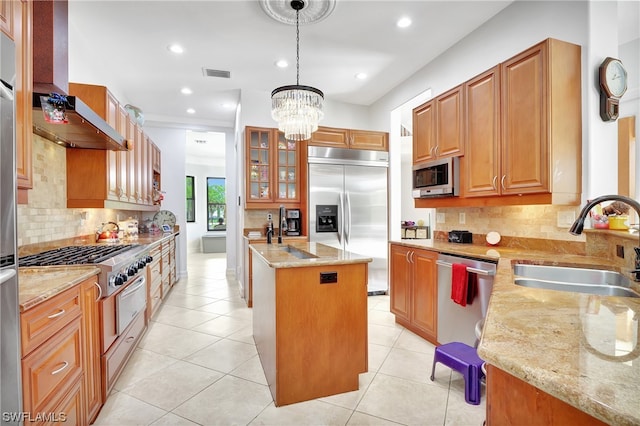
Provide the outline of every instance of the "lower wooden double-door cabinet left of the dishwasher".
{"type": "Polygon", "coordinates": [[[438,254],[391,244],[391,312],[396,322],[437,344],[438,254]]]}

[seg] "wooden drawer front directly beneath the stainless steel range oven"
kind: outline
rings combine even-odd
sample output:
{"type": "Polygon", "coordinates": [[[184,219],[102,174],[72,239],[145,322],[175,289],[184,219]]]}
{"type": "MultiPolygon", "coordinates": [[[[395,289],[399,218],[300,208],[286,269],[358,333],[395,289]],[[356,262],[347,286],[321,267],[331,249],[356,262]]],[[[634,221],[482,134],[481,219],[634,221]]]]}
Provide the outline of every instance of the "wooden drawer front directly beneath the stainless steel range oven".
{"type": "MultiPolygon", "coordinates": [[[[144,315],[138,314],[125,332],[118,338],[106,354],[102,356],[102,397],[106,400],[116,383],[122,368],[133,353],[145,328],[144,315]]],[[[104,402],[104,401],[103,401],[104,402]]]]}

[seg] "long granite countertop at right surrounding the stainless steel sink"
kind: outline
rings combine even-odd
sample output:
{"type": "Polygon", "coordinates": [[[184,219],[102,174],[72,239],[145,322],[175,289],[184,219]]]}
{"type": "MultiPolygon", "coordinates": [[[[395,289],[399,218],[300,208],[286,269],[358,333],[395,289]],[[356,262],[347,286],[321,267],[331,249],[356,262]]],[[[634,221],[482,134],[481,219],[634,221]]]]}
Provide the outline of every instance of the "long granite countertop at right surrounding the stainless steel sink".
{"type": "Polygon", "coordinates": [[[640,424],[640,299],[514,284],[514,263],[611,269],[605,259],[428,240],[391,242],[497,260],[479,355],[606,423],[640,424]]]}

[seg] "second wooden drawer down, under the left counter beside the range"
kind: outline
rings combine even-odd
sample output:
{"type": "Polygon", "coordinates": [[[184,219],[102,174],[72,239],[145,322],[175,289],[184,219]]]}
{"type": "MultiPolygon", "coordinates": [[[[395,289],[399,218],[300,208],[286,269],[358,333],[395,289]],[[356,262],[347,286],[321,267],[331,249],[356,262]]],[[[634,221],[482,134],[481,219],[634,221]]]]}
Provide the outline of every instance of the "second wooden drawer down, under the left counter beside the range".
{"type": "Polygon", "coordinates": [[[80,318],[76,318],[23,358],[24,411],[40,412],[82,377],[80,329],[80,318]]]}

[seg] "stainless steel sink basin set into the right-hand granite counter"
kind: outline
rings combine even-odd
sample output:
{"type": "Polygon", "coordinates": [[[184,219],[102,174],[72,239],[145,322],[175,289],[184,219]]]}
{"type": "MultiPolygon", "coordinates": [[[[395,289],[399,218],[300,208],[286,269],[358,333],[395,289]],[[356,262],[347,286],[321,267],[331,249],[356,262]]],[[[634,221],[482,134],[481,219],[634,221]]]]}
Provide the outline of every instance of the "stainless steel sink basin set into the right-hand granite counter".
{"type": "Polygon", "coordinates": [[[524,287],[602,296],[640,297],[640,293],[630,288],[631,281],[627,277],[606,269],[516,264],[513,273],[516,276],[515,283],[524,287]]]}

